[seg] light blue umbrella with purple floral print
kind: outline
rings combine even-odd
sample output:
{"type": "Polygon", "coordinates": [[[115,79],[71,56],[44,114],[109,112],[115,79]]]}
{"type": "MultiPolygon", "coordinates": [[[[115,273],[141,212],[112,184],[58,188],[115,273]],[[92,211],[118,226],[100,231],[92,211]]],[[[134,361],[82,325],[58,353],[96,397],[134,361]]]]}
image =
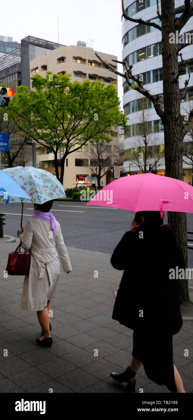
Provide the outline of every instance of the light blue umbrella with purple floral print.
{"type": "MultiPolygon", "coordinates": [[[[43,204],[49,200],[66,197],[62,184],[52,173],[44,169],[17,166],[3,169],[3,172],[7,173],[28,194],[29,199],[22,199],[22,202],[43,204]]],[[[21,202],[21,199],[17,197],[10,198],[10,202],[19,201],[21,202]]],[[[3,202],[2,198],[0,202],[3,202]]]]}

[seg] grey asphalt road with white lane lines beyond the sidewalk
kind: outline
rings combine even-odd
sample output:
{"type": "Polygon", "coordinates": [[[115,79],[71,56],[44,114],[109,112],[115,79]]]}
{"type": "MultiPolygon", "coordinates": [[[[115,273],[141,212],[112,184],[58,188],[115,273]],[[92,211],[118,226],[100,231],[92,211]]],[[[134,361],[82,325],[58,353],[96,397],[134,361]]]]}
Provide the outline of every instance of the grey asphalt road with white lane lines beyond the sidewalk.
{"type": "MultiPolygon", "coordinates": [[[[112,253],[118,241],[131,228],[134,213],[83,202],[54,202],[51,209],[60,223],[64,242],[68,247],[112,253]]],[[[4,235],[17,236],[21,220],[21,203],[0,205],[6,213],[4,235]]],[[[33,214],[33,205],[25,203],[23,226],[33,214]]],[[[193,231],[193,214],[187,214],[188,230],[193,231]]],[[[167,223],[167,213],[165,213],[167,223]]],[[[188,250],[188,265],[193,267],[193,250],[188,250]]]]}

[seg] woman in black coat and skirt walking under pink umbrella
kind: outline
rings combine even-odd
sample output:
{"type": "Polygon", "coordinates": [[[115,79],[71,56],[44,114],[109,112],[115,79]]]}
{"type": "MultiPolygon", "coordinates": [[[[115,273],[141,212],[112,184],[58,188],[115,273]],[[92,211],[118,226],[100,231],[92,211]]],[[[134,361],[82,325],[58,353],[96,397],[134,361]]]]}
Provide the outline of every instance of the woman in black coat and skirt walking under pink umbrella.
{"type": "Polygon", "coordinates": [[[171,269],[185,269],[175,235],[158,211],[137,212],[134,227],[126,232],[111,257],[117,270],[124,270],[113,309],[113,319],[134,330],[129,367],[111,373],[118,382],[135,390],[139,367],[149,379],[171,392],[184,393],[180,374],[173,364],[172,335],[182,326],[179,280],[171,269]]]}

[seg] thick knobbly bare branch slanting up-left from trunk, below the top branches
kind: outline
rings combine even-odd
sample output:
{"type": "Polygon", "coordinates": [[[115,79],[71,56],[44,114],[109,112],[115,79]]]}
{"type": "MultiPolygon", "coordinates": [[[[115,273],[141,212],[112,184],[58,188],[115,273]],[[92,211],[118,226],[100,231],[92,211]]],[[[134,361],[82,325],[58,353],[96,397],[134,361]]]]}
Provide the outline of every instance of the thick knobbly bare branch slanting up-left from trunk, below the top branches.
{"type": "Polygon", "coordinates": [[[137,92],[141,93],[141,95],[144,95],[147,99],[152,101],[157,115],[159,115],[162,121],[164,120],[165,114],[163,111],[162,103],[154,95],[152,95],[147,89],[144,89],[142,82],[139,80],[139,77],[136,78],[135,76],[131,74],[131,69],[133,66],[129,66],[129,69],[128,69],[127,62],[126,61],[121,62],[121,64],[125,66],[126,71],[124,73],[120,73],[119,71],[115,70],[114,67],[111,66],[111,64],[109,64],[107,61],[104,61],[102,58],[100,58],[100,55],[98,55],[97,53],[95,53],[95,55],[101,61],[101,63],[103,63],[105,66],[108,66],[110,71],[113,71],[113,73],[118,74],[118,76],[124,77],[124,79],[126,79],[130,87],[132,85],[132,82],[129,79],[135,81],[138,84],[138,86],[136,85],[134,89],[137,92]]]}

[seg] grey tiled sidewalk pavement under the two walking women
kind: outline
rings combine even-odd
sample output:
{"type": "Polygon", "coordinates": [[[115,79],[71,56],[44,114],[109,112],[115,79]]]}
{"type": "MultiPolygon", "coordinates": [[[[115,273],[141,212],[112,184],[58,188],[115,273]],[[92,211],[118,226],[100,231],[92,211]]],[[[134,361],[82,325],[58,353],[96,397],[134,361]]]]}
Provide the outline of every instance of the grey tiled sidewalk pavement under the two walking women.
{"type": "MultiPolygon", "coordinates": [[[[133,331],[111,318],[114,291],[122,275],[112,268],[111,256],[67,248],[73,270],[68,276],[61,270],[57,302],[50,319],[53,344],[44,349],[36,344],[36,337],[41,336],[36,312],[20,308],[23,277],[3,277],[8,253],[16,245],[3,242],[0,247],[0,392],[126,392],[125,384],[110,377],[111,371],[120,372],[129,365],[133,343],[133,331]]],[[[193,300],[193,282],[190,283],[193,300]]],[[[183,308],[183,315],[187,317],[183,327],[173,337],[174,363],[185,391],[193,393],[192,305],[183,308]],[[188,356],[184,355],[185,349],[188,356]]],[[[136,393],[139,388],[144,393],[169,392],[165,386],[150,381],[143,367],[136,375],[136,393]]]]}

